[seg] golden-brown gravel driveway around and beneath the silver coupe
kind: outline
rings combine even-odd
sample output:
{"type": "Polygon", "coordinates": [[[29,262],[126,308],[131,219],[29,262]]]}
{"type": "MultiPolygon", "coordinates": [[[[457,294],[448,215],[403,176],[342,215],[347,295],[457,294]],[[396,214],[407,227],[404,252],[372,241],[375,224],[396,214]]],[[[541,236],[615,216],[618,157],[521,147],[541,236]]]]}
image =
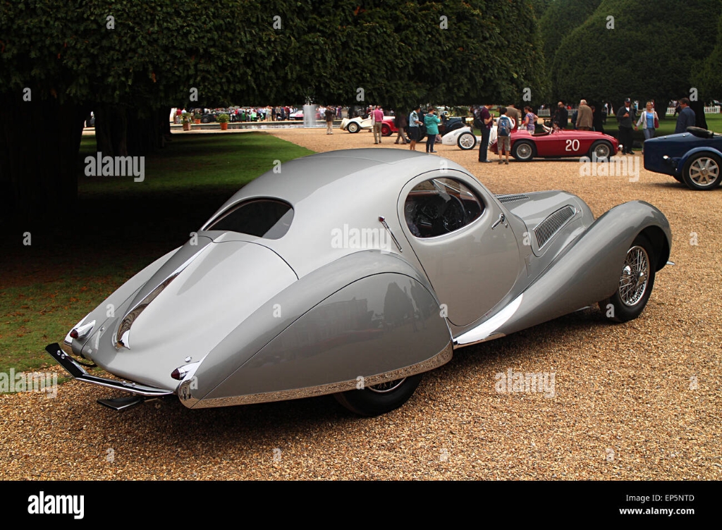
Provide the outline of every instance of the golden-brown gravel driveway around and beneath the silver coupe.
{"type": "MultiPolygon", "coordinates": [[[[270,134],[315,151],[375,147],[367,132],[270,134]]],[[[0,396],[0,478],[722,479],[722,189],[690,191],[641,159],[630,182],[580,176],[578,160],[482,165],[476,151],[436,149],[495,194],[563,189],[595,216],[648,201],[669,218],[676,265],[637,320],[612,325],[595,307],[459,349],[382,417],[353,417],[330,396],[118,413],[95,404],[112,393],[75,381],[55,399],[0,396]],[[553,395],[498,393],[508,370],[553,373],[553,395]]]]}

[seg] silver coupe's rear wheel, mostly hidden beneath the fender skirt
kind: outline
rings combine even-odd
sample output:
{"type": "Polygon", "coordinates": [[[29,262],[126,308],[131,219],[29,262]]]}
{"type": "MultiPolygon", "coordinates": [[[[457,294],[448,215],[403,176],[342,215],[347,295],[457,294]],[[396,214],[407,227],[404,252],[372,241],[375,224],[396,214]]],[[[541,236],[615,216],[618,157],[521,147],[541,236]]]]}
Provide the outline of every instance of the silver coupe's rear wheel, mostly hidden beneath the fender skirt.
{"type": "Polygon", "coordinates": [[[378,416],[398,409],[409,400],[419,386],[423,373],[410,375],[403,379],[381,383],[363,388],[334,394],[336,401],[360,416],[378,416]]]}

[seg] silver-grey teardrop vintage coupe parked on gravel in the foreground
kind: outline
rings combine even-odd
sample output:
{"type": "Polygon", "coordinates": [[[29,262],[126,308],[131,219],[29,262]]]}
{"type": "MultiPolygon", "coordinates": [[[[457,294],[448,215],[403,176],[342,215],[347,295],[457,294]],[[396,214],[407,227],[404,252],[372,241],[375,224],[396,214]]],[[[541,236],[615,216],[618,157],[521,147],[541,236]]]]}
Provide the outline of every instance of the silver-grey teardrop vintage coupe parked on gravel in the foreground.
{"type": "Polygon", "coordinates": [[[594,220],[577,196],[495,196],[433,155],[326,152],[244,186],[46,349],[79,380],[131,393],[98,400],[114,409],[334,394],[383,414],[458,347],[593,303],[636,318],[670,246],[643,201],[594,220]]]}

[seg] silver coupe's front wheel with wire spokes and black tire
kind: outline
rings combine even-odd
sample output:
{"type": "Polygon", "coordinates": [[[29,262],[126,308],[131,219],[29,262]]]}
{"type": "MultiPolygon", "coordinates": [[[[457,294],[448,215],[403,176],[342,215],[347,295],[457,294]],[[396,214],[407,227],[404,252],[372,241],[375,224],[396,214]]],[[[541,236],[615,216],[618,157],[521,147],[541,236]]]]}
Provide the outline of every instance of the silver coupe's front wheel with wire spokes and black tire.
{"type": "Polygon", "coordinates": [[[654,287],[655,263],[652,243],[644,235],[638,235],[622,264],[617,291],[599,303],[606,318],[627,322],[642,314],[654,287]]]}

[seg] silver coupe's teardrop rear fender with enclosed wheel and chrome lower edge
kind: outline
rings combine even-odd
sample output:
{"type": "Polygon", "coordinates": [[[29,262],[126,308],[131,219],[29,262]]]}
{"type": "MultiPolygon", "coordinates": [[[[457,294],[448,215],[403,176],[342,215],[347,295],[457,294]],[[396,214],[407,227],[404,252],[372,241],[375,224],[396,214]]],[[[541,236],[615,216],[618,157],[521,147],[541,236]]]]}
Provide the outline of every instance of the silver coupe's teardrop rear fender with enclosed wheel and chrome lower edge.
{"type": "Polygon", "coordinates": [[[302,277],[209,353],[186,407],[279,401],[391,381],[451,359],[430,284],[395,254],[362,251],[302,277]]]}

